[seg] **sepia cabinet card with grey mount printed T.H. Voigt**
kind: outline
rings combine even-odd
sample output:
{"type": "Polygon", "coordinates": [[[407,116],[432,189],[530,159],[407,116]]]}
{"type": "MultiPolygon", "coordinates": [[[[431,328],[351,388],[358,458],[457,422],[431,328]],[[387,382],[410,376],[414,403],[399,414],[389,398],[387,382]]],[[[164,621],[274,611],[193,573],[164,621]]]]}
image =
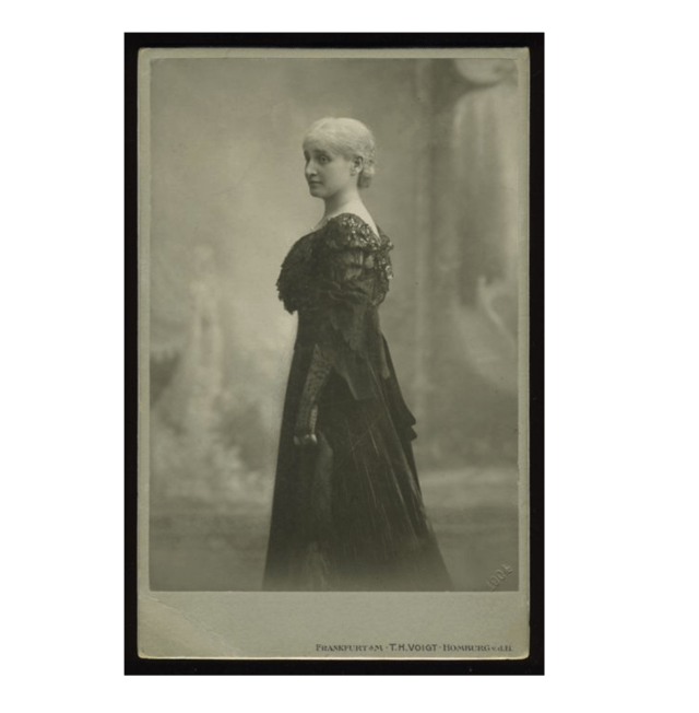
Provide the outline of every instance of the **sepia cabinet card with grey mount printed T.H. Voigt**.
{"type": "Polygon", "coordinates": [[[528,133],[525,49],[142,50],[142,655],[526,655],[528,133]]]}

